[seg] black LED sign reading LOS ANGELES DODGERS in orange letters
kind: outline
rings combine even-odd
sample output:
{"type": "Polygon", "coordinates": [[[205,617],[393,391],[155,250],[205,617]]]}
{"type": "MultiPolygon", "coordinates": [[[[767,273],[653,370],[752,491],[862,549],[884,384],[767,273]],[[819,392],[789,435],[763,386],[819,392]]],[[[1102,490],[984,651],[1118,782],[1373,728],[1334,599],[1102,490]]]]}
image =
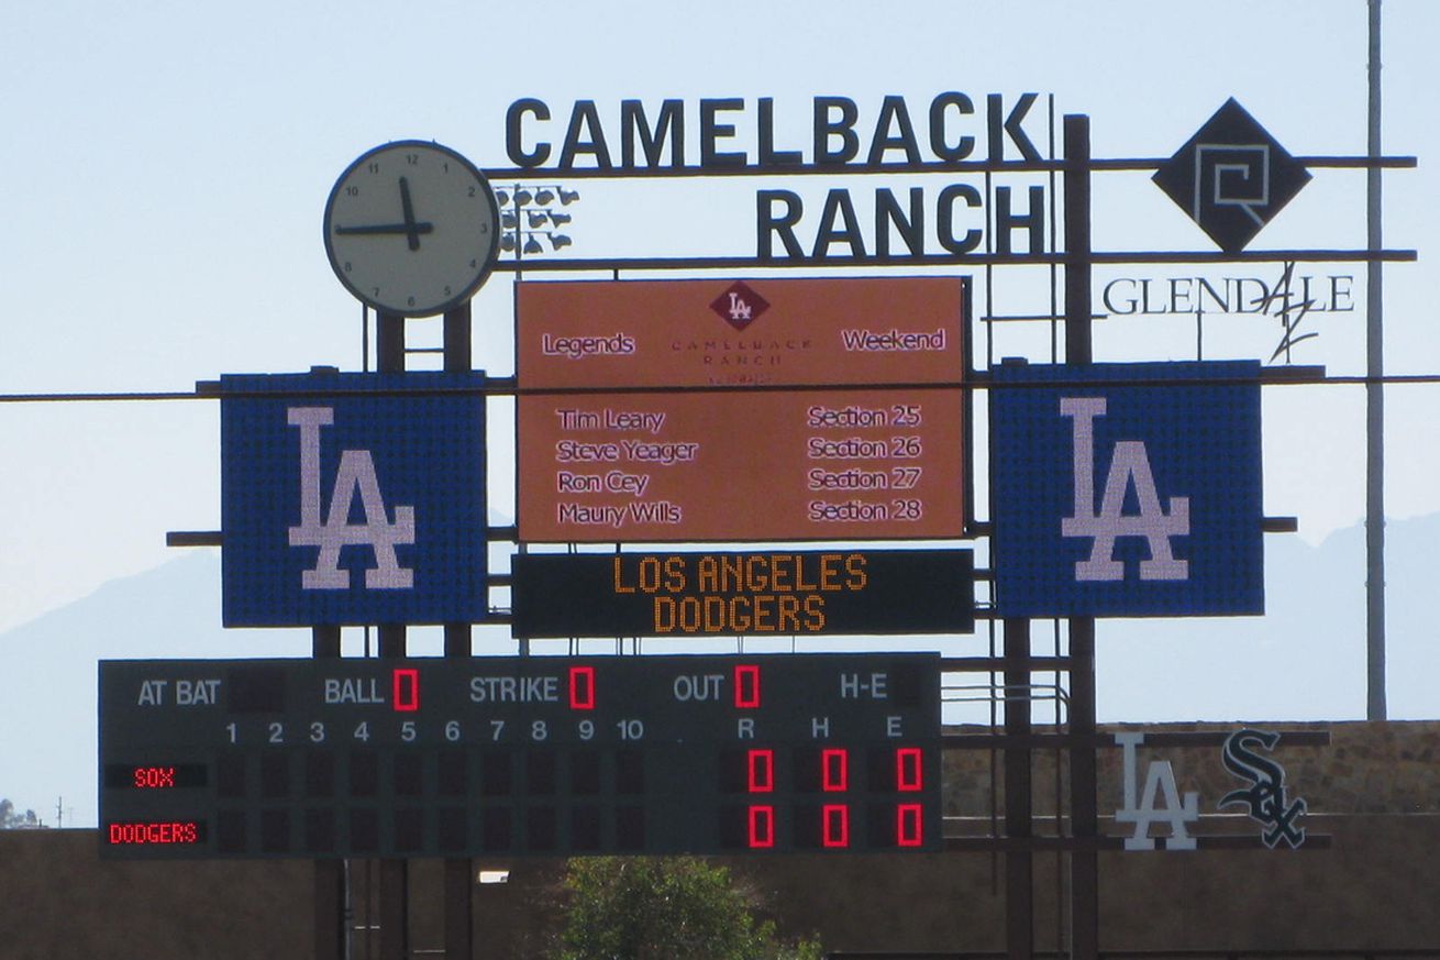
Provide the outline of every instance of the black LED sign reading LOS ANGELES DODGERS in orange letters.
{"type": "Polygon", "coordinates": [[[518,554],[517,637],[971,633],[971,551],[518,554]]]}

